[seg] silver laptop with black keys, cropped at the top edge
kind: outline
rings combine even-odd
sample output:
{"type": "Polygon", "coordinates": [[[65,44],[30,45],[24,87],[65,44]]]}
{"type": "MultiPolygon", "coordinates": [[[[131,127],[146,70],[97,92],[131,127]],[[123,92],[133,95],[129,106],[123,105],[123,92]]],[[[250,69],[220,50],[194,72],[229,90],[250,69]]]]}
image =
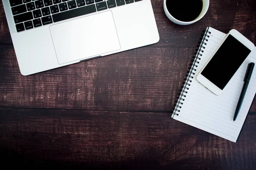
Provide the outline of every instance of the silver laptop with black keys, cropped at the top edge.
{"type": "Polygon", "coordinates": [[[3,0],[22,75],[159,41],[150,0],[3,0]]]}

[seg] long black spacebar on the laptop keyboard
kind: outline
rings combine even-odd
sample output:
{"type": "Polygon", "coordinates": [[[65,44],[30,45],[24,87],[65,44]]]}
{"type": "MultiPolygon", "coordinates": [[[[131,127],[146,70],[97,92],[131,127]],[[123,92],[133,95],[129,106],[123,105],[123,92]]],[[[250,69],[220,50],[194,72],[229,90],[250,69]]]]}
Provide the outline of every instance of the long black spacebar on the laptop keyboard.
{"type": "Polygon", "coordinates": [[[58,21],[67,20],[73,17],[90,14],[92,12],[96,12],[95,4],[72,9],[72,10],[61,12],[58,14],[53,14],[52,19],[53,19],[53,22],[58,22],[58,21]]]}

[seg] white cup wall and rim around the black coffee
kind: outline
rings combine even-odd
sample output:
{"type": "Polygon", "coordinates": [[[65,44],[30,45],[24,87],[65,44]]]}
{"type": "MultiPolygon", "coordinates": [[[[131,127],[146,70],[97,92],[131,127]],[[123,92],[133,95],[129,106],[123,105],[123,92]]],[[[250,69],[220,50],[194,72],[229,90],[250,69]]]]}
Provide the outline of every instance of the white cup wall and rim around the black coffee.
{"type": "Polygon", "coordinates": [[[189,22],[184,22],[184,21],[180,21],[177,20],[175,17],[172,17],[172,15],[169,13],[167,7],[166,7],[166,0],[163,0],[163,10],[166,14],[166,16],[169,18],[169,20],[171,20],[172,22],[179,24],[179,25],[189,25],[192,23],[197,22],[198,20],[200,20],[202,17],[204,17],[204,15],[206,14],[208,8],[209,8],[209,0],[202,0],[203,1],[203,8],[201,13],[198,15],[197,18],[195,18],[195,20],[189,21],[189,22]]]}

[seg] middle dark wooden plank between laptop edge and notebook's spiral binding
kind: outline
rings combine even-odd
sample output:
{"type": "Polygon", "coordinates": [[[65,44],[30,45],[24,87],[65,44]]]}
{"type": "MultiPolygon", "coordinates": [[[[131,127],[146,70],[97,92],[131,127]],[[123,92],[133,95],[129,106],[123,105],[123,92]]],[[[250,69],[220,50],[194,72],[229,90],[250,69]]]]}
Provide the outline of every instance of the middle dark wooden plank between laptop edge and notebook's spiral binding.
{"type": "Polygon", "coordinates": [[[0,106],[171,111],[194,50],[147,46],[24,77],[0,45],[0,106]]]}

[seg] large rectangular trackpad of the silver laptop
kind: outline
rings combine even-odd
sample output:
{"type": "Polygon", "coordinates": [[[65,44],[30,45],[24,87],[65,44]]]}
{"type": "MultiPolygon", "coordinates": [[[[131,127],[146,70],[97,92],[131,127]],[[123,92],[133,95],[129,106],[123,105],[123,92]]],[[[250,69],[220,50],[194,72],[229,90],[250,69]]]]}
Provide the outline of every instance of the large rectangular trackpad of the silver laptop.
{"type": "Polygon", "coordinates": [[[59,64],[121,48],[111,11],[55,24],[50,31],[59,64]]]}

